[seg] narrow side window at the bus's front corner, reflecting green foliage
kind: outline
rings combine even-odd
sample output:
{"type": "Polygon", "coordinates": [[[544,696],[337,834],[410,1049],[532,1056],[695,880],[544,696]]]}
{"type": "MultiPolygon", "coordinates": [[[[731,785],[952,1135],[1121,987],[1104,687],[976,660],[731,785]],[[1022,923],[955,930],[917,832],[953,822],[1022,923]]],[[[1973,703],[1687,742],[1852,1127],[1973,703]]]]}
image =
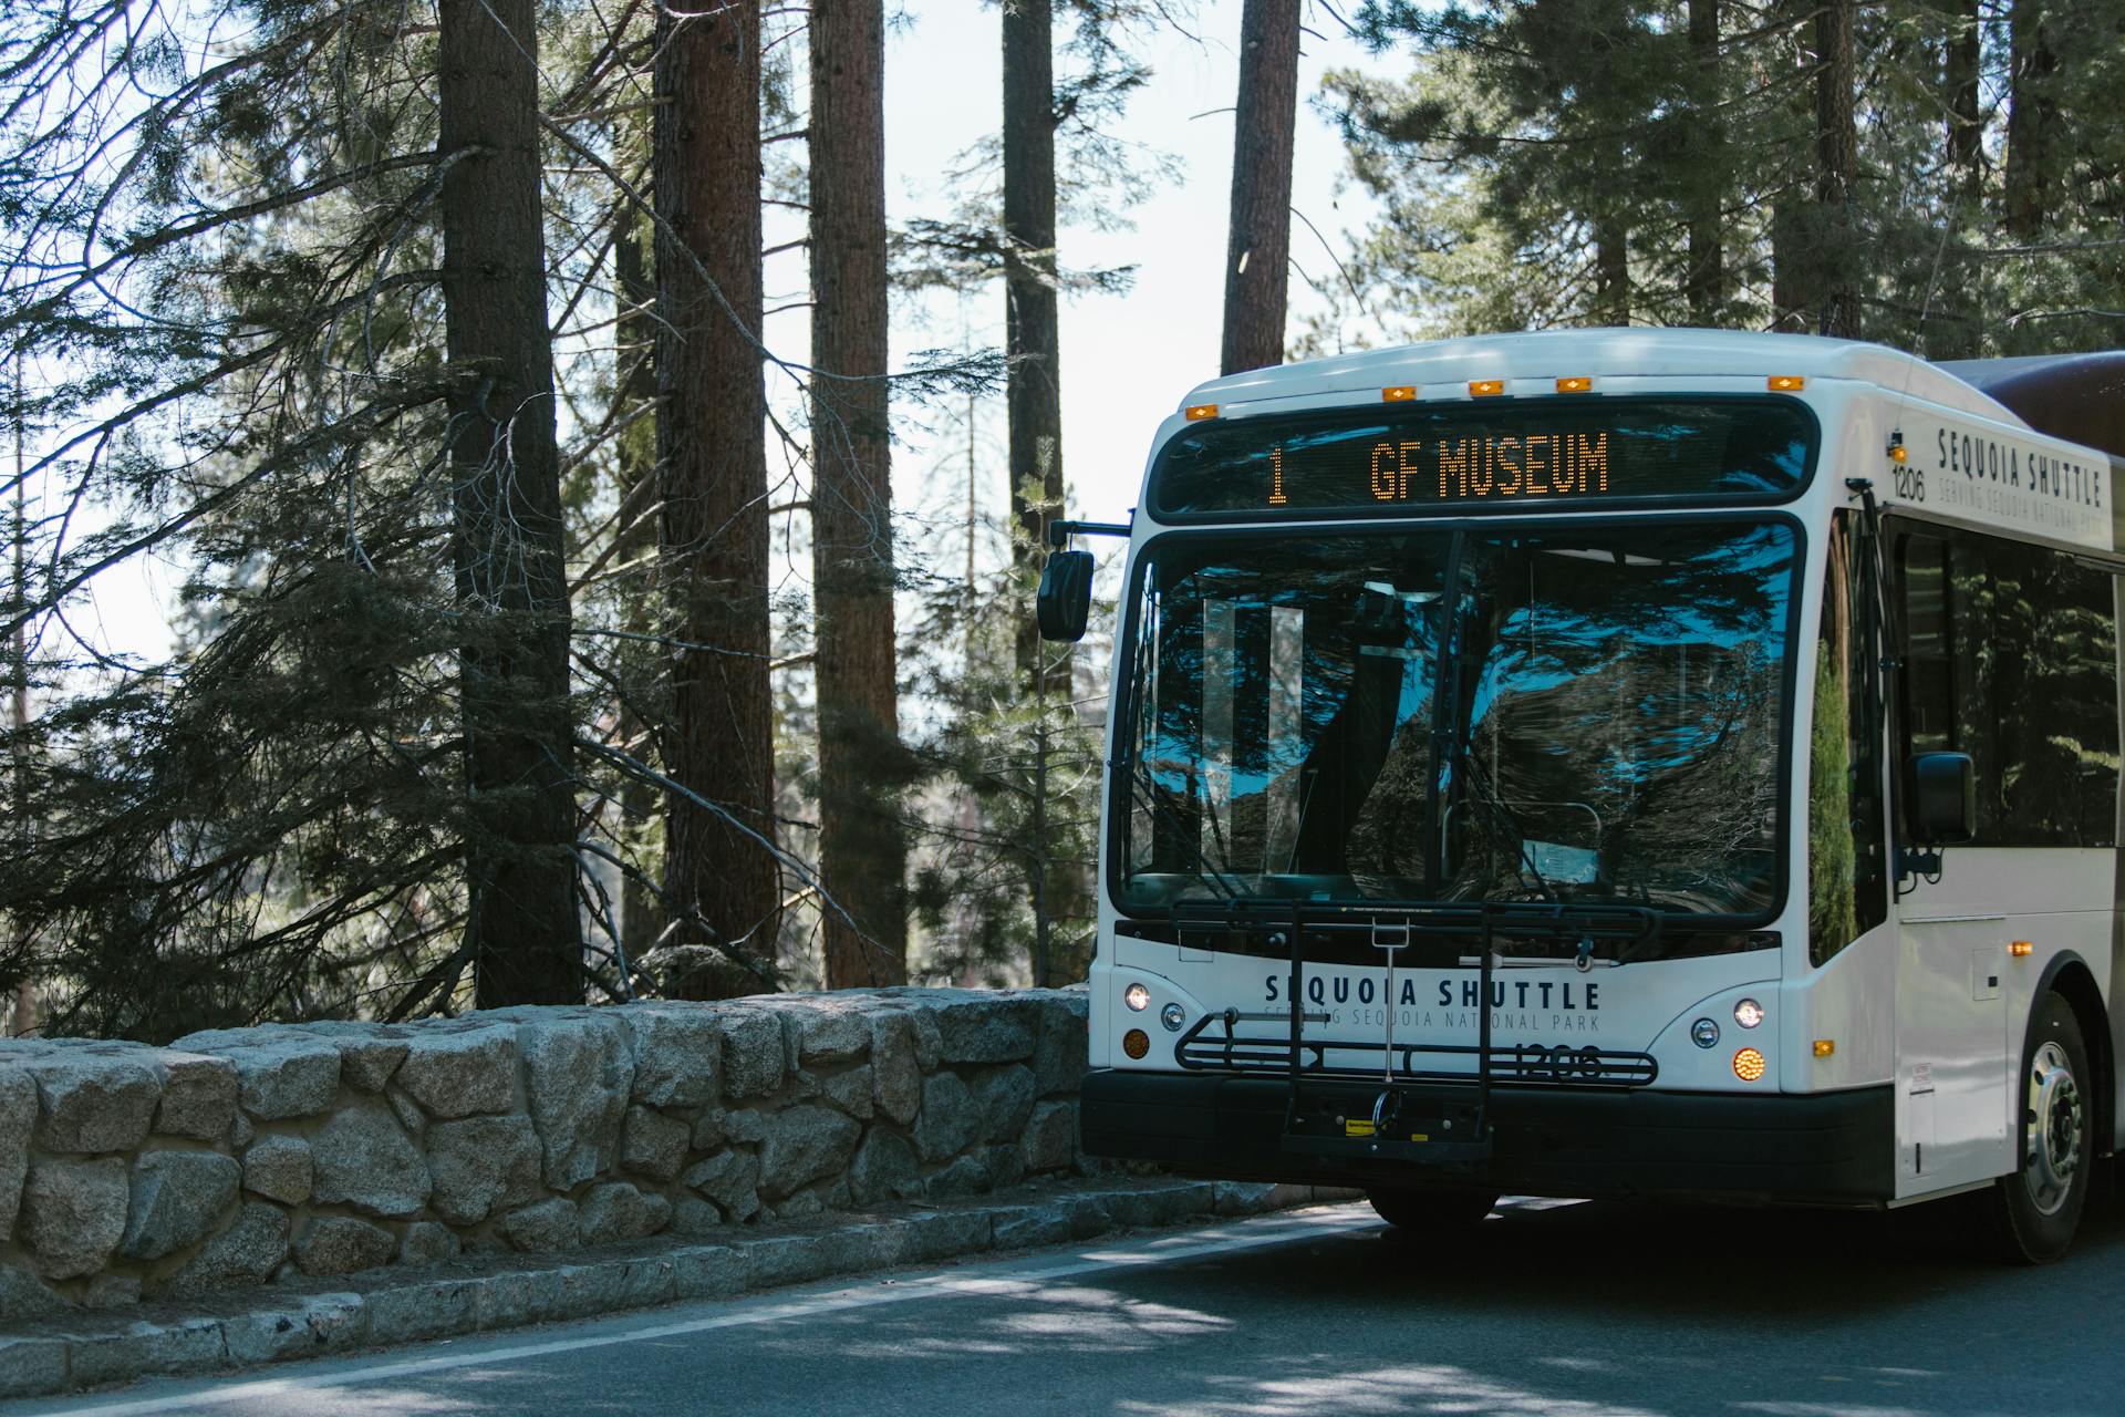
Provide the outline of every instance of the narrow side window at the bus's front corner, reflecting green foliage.
{"type": "Polygon", "coordinates": [[[1821,964],[1889,914],[1881,746],[1868,724],[1881,654],[1866,644],[1864,580],[1840,512],[1830,527],[1823,633],[1815,648],[1808,769],[1808,958],[1821,964]]]}

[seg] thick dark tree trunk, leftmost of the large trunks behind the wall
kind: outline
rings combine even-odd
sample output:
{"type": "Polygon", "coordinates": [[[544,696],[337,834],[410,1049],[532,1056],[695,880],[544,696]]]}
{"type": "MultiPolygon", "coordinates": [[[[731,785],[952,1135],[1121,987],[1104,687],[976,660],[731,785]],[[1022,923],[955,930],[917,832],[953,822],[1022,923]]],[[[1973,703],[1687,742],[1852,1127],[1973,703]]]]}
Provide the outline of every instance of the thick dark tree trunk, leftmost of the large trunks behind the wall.
{"type": "Polygon", "coordinates": [[[480,1007],[580,1003],[561,455],[531,0],[442,0],[438,144],[450,370],[468,924],[480,1007]]]}

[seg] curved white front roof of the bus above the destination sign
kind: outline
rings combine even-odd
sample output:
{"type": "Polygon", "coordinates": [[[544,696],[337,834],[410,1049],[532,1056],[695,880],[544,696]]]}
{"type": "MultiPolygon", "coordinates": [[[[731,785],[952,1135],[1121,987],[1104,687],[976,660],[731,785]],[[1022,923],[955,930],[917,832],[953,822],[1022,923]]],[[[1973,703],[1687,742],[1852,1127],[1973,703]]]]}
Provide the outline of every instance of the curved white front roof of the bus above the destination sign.
{"type": "Polygon", "coordinates": [[[1853,378],[1985,419],[2021,423],[2008,404],[1989,397],[1972,382],[1885,344],[1736,329],[1543,329],[1432,340],[1228,374],[1196,385],[1184,406],[1288,399],[1468,378],[1570,378],[1581,374],[1592,378],[1770,374],[1853,378]]]}

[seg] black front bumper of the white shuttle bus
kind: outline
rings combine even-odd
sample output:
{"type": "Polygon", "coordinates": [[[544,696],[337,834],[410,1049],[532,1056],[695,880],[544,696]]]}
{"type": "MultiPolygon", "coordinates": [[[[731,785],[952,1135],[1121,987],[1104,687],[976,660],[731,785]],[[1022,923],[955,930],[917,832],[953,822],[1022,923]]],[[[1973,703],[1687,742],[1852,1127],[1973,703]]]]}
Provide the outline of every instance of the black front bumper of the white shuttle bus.
{"type": "MultiPolygon", "coordinates": [[[[1352,1115],[1366,1115],[1375,1092],[1352,1083],[1352,1115]]],[[[1288,1096],[1277,1077],[1096,1069],[1080,1100],[1084,1149],[1235,1181],[1483,1185],[1526,1196],[1883,1205],[1896,1185],[1887,1086],[1766,1096],[1496,1088],[1492,1156],[1475,1168],[1286,1151],[1288,1096]]],[[[1436,1096],[1466,1103],[1473,1090],[1436,1096]]]]}

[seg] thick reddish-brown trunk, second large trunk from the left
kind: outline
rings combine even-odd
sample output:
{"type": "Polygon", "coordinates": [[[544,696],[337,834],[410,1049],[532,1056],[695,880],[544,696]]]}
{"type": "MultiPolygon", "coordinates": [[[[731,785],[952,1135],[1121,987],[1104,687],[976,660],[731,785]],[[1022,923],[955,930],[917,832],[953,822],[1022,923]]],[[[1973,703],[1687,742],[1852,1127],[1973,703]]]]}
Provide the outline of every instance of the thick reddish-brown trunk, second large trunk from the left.
{"type": "Polygon", "coordinates": [[[659,6],[657,465],[672,591],[665,805],[674,943],[774,956],[767,389],[761,374],[761,6],[659,6]]]}

